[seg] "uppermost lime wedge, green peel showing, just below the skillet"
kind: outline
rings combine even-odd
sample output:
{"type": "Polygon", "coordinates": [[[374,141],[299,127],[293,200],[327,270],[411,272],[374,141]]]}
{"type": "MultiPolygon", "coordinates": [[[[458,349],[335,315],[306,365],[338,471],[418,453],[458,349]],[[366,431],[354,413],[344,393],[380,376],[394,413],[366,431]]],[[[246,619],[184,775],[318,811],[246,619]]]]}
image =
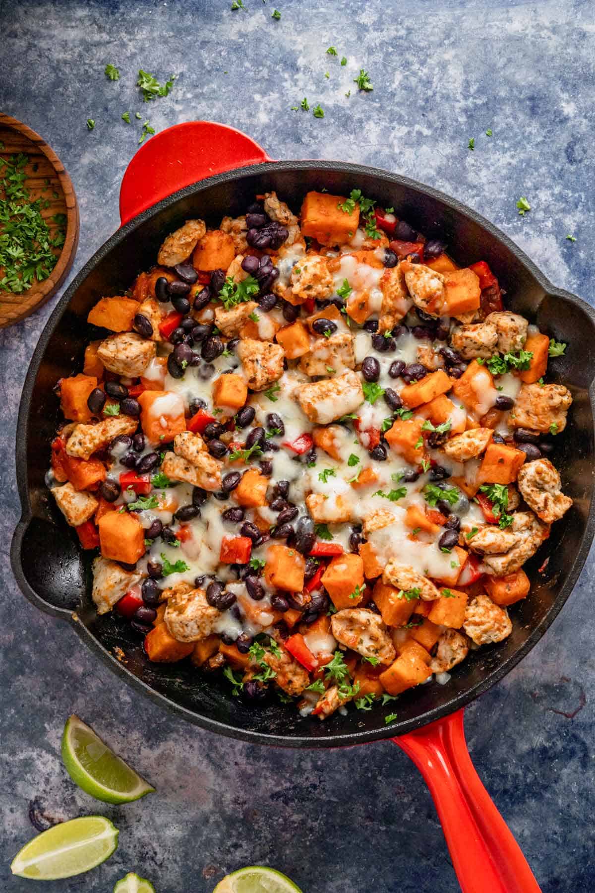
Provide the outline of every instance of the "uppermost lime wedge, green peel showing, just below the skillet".
{"type": "Polygon", "coordinates": [[[64,726],[62,760],[75,784],[97,800],[130,803],[154,791],[74,714],[64,726]]]}

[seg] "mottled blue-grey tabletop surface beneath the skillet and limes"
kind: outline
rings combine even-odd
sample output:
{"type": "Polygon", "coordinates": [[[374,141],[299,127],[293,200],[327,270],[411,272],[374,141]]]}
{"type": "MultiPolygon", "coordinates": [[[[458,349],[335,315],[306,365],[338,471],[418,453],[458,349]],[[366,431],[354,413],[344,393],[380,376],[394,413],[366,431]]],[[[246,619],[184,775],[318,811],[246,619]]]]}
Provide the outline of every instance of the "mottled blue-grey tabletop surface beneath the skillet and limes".
{"type": "MultiPolygon", "coordinates": [[[[272,2],[245,5],[235,13],[230,0],[0,5],[3,111],[54,146],[79,196],[71,275],[118,225],[139,110],[158,130],[223,121],[272,157],[368,163],[433,184],[492,219],[550,280],[592,303],[591,2],[277,0],[280,21],[271,19],[272,2]],[[325,54],[331,44],[338,58],[325,54]],[[108,62],[120,67],[120,81],[103,76],[108,62]],[[372,93],[352,83],[360,67],[372,93]],[[160,80],[179,73],[171,95],[141,104],[139,68],[160,80]],[[303,96],[322,105],[324,120],[291,111],[303,96]],[[133,125],[120,121],[126,110],[133,125]],[[96,121],[91,133],[87,117],[96,121]],[[519,196],[532,205],[525,218],[516,213],[519,196]]],[[[19,516],[21,385],[54,302],[0,333],[4,556],[19,516]]],[[[97,811],[120,828],[109,862],[47,890],[99,893],[136,869],[159,893],[211,893],[225,872],[251,863],[277,866],[307,893],[458,889],[431,799],[392,744],[309,753],[203,733],[140,700],[81,650],[72,630],[37,613],[6,557],[1,573],[0,889],[32,886],[7,865],[34,833],[35,798],[55,818],[97,811]],[[59,753],[73,712],[158,793],[103,808],[76,789],[59,753]]],[[[531,655],[467,710],[475,765],[544,893],[595,888],[593,578],[591,559],[531,655]]]]}

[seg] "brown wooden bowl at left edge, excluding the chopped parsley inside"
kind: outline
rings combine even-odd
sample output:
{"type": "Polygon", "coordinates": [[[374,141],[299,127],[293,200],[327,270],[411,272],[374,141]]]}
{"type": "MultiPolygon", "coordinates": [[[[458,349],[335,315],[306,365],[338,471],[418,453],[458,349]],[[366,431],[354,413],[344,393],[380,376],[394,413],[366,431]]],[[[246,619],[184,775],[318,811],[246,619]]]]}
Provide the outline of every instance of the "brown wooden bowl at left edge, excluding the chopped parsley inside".
{"type": "Polygon", "coordinates": [[[45,304],[62,285],[79,244],[79,205],[64,165],[54,149],[35,130],[10,115],[0,113],[0,155],[8,158],[19,152],[29,157],[24,168],[27,174],[24,186],[29,189],[31,199],[41,197],[49,202],[41,213],[53,236],[58,230],[58,224],[52,218],[56,214],[66,215],[66,235],[58,263],[47,279],[34,282],[27,291],[18,295],[0,290],[0,329],[24,320],[45,304]]]}

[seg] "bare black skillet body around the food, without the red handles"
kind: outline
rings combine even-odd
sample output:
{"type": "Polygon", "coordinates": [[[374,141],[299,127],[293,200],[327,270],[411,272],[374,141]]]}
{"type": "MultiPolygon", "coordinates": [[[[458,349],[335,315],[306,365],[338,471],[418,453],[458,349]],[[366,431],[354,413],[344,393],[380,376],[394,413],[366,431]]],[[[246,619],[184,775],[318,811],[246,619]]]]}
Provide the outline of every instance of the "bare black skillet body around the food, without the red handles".
{"type": "Polygon", "coordinates": [[[400,734],[465,705],[499,680],[541,638],[570,594],[593,532],[590,388],[594,369],[591,308],[553,288],[498,230],[446,196],[408,179],[351,164],[269,163],[221,174],[170,196],[119,230],[79,273],[48,321],[21,399],[17,472],[23,520],[12,544],[16,578],[37,606],[72,619],[87,644],[114,669],[206,728],[290,747],[355,744],[400,734]],[[44,485],[49,443],[59,420],[54,385],[81,368],[91,306],[102,296],[122,294],[139,271],[154,263],[164,236],[187,218],[202,217],[216,226],[224,214],[243,213],[255,194],[270,189],[299,211],[304,193],[321,188],[342,195],[360,188],[380,204],[394,206],[398,216],[427,237],[445,239],[457,262],[486,260],[507,291],[508,307],[569,344],[566,355],[550,363],[550,378],[566,384],[574,397],[556,456],[574,508],[564,522],[554,525],[550,540],[527,567],[533,588],[530,597],[511,609],[512,635],[501,645],[471,653],[445,686],[431,683],[403,694],[394,705],[399,720],[390,728],[384,724],[386,709],[378,707],[368,713],[335,714],[324,723],[302,719],[275,698],[252,709],[230,696],[226,680],[209,678],[187,661],[149,663],[126,622],[115,614],[96,617],[90,597],[90,561],[81,554],[76,535],[53,502],[50,505],[44,485]],[[539,572],[546,558],[549,562],[539,572]]]}

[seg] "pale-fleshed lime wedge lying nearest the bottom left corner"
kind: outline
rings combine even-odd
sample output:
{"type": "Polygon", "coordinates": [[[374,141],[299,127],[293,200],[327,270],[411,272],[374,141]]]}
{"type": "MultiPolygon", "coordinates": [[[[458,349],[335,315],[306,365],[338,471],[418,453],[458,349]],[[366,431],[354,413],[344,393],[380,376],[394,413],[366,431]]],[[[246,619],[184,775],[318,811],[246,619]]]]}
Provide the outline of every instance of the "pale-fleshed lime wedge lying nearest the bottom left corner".
{"type": "Polygon", "coordinates": [[[86,815],[48,828],[14,856],[12,874],[32,880],[71,878],[112,855],[119,831],[103,815],[86,815]]]}

